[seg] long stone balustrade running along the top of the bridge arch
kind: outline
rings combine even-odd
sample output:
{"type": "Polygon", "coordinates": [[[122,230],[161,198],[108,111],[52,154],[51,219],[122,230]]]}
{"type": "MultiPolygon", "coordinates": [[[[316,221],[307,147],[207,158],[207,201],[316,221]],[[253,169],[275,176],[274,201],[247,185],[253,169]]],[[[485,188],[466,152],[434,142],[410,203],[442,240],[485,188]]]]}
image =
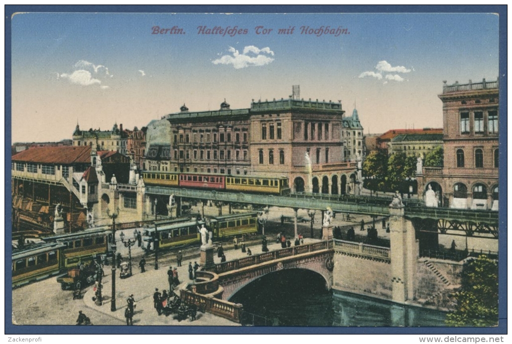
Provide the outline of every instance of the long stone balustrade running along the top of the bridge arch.
{"type": "Polygon", "coordinates": [[[225,273],[228,271],[238,270],[240,268],[260,264],[266,261],[280,259],[284,257],[296,256],[308,252],[328,250],[332,248],[332,241],[318,241],[306,245],[299,245],[294,247],[288,247],[286,249],[265,252],[257,255],[252,255],[236,260],[230,260],[228,262],[215,264],[214,271],[217,274],[225,273]]]}

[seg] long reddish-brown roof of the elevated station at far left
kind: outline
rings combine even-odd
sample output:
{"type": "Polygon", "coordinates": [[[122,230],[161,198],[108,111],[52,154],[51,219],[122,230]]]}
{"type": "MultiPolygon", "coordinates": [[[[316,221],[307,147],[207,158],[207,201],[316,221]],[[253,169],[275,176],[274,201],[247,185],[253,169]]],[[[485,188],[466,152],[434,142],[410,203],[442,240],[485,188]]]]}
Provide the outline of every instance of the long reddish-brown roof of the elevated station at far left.
{"type": "Polygon", "coordinates": [[[67,165],[91,163],[91,147],[35,147],[14,155],[12,161],[67,165]]]}

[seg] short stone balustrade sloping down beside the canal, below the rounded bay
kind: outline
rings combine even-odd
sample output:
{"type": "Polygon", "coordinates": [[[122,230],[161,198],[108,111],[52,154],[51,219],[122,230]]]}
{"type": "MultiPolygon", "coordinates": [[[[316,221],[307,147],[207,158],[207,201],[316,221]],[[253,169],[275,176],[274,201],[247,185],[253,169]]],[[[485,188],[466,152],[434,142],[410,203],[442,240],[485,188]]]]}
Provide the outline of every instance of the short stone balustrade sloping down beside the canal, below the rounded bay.
{"type": "Polygon", "coordinates": [[[240,323],[243,306],[241,304],[216,299],[212,296],[206,296],[193,293],[189,290],[180,290],[180,298],[186,303],[194,303],[201,311],[222,316],[228,320],[240,323]]]}

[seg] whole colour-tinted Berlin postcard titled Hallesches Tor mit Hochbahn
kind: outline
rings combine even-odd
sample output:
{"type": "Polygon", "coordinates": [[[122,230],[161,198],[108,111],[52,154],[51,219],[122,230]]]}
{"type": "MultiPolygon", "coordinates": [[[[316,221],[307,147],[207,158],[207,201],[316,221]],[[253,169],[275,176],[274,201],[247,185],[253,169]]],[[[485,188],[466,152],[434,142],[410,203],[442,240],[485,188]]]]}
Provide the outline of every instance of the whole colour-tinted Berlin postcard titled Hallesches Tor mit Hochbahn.
{"type": "Polygon", "coordinates": [[[12,13],[9,331],[503,330],[498,14],[148,10],[12,13]]]}

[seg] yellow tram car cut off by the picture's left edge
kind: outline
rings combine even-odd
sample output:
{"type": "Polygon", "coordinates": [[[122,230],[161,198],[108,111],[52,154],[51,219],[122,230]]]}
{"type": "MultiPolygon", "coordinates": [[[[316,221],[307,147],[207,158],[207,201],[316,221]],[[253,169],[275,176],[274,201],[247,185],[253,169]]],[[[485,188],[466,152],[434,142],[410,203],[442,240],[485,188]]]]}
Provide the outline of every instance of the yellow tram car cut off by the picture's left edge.
{"type": "Polygon", "coordinates": [[[12,252],[12,286],[57,275],[61,268],[61,242],[33,244],[12,252]]]}

